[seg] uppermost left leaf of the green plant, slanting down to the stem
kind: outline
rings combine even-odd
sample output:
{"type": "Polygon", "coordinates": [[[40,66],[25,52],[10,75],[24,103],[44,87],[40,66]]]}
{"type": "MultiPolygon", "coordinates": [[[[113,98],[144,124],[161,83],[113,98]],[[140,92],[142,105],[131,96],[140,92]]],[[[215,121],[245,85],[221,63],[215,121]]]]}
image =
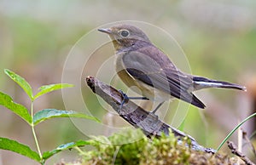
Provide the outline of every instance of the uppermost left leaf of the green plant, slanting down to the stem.
{"type": "Polygon", "coordinates": [[[8,69],[4,70],[5,74],[7,74],[11,79],[13,79],[16,83],[20,85],[21,88],[26,92],[26,94],[33,100],[32,88],[29,83],[23,77],[17,75],[14,71],[9,71],[8,69]]]}

